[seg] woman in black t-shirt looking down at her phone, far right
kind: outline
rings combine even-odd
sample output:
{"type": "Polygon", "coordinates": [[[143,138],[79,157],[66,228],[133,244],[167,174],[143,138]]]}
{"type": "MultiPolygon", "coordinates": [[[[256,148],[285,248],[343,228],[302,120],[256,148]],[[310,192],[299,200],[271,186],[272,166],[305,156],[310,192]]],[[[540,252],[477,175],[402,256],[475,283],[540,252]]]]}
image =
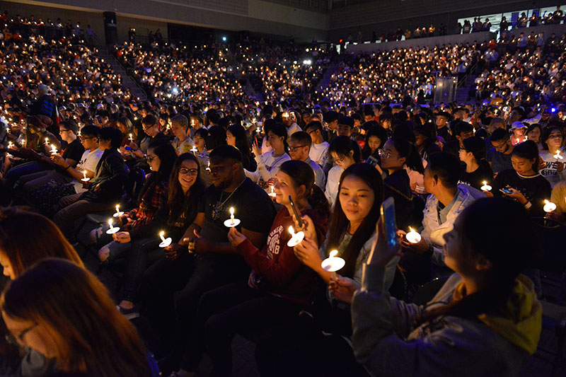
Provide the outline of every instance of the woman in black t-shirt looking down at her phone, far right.
{"type": "Polygon", "coordinates": [[[551,187],[538,172],[538,148],[534,141],[517,144],[512,153],[513,169],[503,170],[493,181],[488,196],[505,197],[519,202],[531,216],[545,216],[544,199],[550,198],[551,187]]]}

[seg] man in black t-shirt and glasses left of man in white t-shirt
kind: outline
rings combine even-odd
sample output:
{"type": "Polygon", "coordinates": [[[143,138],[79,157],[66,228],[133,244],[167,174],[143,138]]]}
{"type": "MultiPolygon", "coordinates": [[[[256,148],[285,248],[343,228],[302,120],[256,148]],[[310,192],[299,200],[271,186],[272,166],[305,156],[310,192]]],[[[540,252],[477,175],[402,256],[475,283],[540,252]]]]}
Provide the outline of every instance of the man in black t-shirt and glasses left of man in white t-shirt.
{"type": "MultiPolygon", "coordinates": [[[[84,153],[83,144],[76,137],[79,132],[79,127],[74,120],[64,120],[59,123],[59,135],[61,139],[67,144],[62,149],[61,158],[65,161],[66,166],[75,167],[76,164],[81,160],[84,153]]],[[[58,154],[58,153],[57,153],[58,154]]],[[[56,165],[53,162],[54,158],[59,158],[57,156],[51,156],[42,158],[42,163],[50,166],[50,170],[44,170],[39,173],[33,173],[28,175],[23,175],[18,180],[18,184],[22,185],[24,192],[30,192],[35,190],[37,187],[45,185],[51,181],[57,183],[67,183],[71,182],[73,178],[65,174],[64,168],[56,165]]]]}

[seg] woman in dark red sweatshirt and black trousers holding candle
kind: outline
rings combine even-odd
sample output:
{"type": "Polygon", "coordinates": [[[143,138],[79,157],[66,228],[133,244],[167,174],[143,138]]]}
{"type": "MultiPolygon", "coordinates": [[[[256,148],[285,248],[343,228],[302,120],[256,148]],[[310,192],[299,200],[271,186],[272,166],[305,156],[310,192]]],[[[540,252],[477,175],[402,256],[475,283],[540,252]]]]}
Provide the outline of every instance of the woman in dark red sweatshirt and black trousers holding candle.
{"type": "Polygon", "coordinates": [[[277,172],[275,197],[282,207],[271,226],[267,243],[258,250],[243,234],[231,228],[228,238],[252,268],[248,282],[222,286],[202,296],[178,376],[195,372],[205,349],[214,364],[214,376],[232,371],[231,341],[236,333],[264,332],[308,306],[316,291],[317,276],[287,245],[289,226],[296,230],[289,196],[301,214],[308,215],[323,242],[330,208],[314,184],[314,172],[302,161],[286,161],[277,172]]]}

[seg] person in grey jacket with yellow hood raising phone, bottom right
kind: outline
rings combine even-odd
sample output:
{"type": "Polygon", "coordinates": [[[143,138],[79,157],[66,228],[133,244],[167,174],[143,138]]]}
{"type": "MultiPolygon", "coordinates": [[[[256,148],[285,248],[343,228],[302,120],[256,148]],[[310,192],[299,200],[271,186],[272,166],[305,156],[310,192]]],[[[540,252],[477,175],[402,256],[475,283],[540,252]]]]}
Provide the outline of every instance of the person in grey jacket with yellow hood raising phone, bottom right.
{"type": "Polygon", "coordinates": [[[521,274],[538,248],[526,210],[502,199],[480,199],[464,209],[444,234],[444,260],[456,274],[427,306],[387,293],[384,268],[399,248],[383,240],[381,222],[377,228],[362,289],[352,301],[352,346],[369,373],[519,375],[536,351],[542,318],[533,283],[521,274]],[[473,370],[462,369],[464,359],[473,370]]]}

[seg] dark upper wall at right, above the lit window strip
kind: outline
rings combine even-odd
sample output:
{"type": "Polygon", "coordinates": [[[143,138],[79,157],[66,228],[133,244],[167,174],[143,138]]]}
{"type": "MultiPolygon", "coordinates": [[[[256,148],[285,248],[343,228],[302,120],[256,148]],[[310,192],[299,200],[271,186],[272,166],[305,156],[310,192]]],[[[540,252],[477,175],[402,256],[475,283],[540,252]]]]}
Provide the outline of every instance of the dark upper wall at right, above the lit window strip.
{"type": "Polygon", "coordinates": [[[352,33],[354,40],[358,30],[369,39],[372,32],[377,36],[400,27],[415,30],[417,26],[437,28],[441,23],[448,25],[449,34],[454,33],[459,18],[468,18],[492,13],[522,11],[565,4],[565,0],[379,0],[365,4],[335,8],[330,13],[330,41],[346,39],[352,33]]]}

